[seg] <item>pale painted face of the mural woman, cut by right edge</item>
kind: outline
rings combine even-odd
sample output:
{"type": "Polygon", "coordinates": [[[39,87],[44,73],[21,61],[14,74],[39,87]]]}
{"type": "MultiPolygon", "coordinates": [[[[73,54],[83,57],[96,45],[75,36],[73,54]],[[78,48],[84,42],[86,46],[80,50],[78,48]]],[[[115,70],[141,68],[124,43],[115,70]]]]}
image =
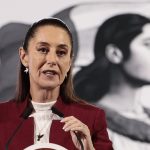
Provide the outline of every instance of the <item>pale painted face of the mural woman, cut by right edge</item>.
{"type": "Polygon", "coordinates": [[[142,33],[131,41],[130,51],[124,70],[136,79],[150,82],[150,24],[143,26],[142,33]]]}

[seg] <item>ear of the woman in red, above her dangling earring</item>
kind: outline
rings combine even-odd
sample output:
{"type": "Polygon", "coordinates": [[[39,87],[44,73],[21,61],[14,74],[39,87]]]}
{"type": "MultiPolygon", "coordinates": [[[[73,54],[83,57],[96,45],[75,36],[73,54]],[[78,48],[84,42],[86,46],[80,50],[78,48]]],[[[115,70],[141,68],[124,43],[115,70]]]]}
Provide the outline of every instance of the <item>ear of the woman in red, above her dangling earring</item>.
{"type": "Polygon", "coordinates": [[[20,56],[20,60],[22,62],[22,64],[25,67],[28,67],[28,54],[27,52],[23,49],[23,47],[19,48],[19,56],[20,56]]]}

